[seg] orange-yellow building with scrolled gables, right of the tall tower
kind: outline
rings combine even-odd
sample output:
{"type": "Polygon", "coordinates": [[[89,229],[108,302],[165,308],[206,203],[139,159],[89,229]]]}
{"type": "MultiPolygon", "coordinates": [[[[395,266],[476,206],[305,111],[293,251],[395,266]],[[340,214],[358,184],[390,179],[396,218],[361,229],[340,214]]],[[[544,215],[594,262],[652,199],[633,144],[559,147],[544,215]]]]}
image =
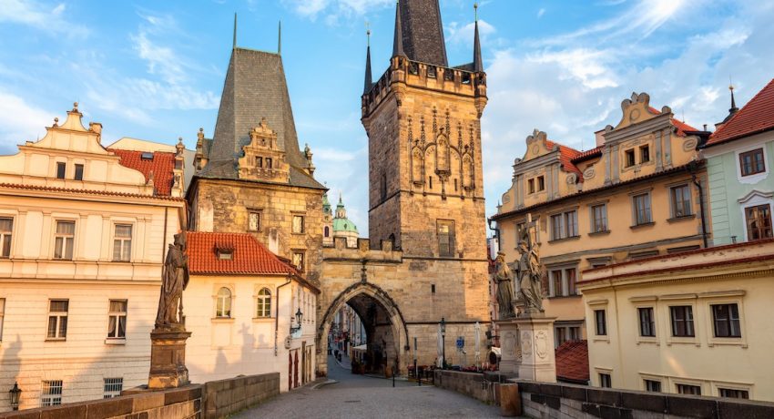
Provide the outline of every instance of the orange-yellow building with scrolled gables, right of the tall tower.
{"type": "Polygon", "coordinates": [[[584,152],[535,130],[491,219],[509,262],[518,259],[527,214],[536,220],[556,345],[586,336],[582,271],[705,245],[699,138],[669,107],[649,101],[646,93],[624,100],[620,122],[596,132],[596,148],[584,152]]]}

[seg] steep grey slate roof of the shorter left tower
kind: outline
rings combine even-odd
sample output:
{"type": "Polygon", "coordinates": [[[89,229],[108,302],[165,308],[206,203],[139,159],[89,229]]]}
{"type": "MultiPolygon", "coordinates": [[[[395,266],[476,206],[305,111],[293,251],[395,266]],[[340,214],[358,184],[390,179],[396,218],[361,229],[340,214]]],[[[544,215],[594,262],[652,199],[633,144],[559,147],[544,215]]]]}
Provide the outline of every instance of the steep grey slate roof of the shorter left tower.
{"type": "Polygon", "coordinates": [[[282,57],[239,47],[231,52],[209,163],[199,176],[238,179],[237,159],[242,147],[250,143],[250,128],[258,126],[261,118],[277,133],[277,147],[286,153],[290,184],[323,189],[308,175],[309,179],[300,176],[309,163],[300,152],[282,57]]]}

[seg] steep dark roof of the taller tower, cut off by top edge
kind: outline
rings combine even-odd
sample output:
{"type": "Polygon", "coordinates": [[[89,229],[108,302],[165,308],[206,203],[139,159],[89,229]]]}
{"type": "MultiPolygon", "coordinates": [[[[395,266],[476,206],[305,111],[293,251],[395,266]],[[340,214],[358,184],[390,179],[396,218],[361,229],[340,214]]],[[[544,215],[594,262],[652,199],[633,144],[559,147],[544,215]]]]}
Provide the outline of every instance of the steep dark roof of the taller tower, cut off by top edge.
{"type": "Polygon", "coordinates": [[[448,67],[438,0],[399,0],[403,51],[413,61],[448,67]]]}

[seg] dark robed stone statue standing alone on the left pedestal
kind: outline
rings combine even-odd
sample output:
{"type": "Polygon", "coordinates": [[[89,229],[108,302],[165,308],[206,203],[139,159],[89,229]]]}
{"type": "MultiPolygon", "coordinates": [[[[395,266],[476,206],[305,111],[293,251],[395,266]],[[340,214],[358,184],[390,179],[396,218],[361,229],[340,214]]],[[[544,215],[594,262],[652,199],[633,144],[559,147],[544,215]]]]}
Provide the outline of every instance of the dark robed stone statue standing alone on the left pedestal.
{"type": "Polygon", "coordinates": [[[183,290],[188,286],[186,233],[175,234],[161,271],[161,295],[158,298],[157,329],[180,329],[183,317],[183,290]],[[178,316],[179,303],[179,316],[178,316]]]}

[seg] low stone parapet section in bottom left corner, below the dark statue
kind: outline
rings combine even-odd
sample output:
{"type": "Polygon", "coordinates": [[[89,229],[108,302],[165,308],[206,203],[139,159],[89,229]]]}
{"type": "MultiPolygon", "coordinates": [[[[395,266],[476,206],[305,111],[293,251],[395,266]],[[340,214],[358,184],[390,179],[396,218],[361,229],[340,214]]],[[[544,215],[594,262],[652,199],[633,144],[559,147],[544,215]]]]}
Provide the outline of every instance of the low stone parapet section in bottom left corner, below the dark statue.
{"type": "Polygon", "coordinates": [[[189,419],[201,417],[202,386],[160,392],[123,395],[112,399],[39,407],[0,414],[3,419],[76,418],[94,419],[189,419]]]}

